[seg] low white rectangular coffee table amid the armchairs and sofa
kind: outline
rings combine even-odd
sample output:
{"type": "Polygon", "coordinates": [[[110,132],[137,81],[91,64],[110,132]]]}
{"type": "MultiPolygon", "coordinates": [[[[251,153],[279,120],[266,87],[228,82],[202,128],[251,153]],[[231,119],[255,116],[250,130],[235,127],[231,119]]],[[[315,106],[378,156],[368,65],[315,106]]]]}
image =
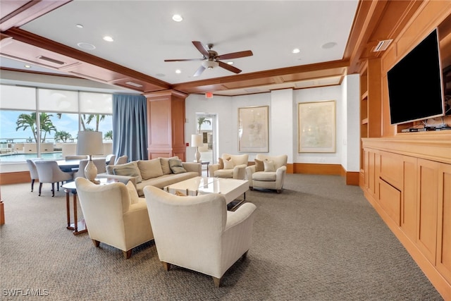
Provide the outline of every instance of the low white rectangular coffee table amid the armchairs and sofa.
{"type": "Polygon", "coordinates": [[[243,199],[236,204],[237,207],[246,200],[246,192],[249,190],[247,180],[235,180],[230,178],[194,177],[163,188],[165,191],[175,194],[176,191],[183,195],[205,195],[207,193],[220,193],[226,197],[226,204],[233,202],[243,195],[243,199]]]}

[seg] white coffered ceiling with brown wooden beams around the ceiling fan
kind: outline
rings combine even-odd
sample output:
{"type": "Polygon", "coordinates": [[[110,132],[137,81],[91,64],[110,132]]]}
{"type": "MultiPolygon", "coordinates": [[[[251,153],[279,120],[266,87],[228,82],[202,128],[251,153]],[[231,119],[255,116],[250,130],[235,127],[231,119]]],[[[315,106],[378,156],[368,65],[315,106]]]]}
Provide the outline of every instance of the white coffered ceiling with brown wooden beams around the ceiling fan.
{"type": "Polygon", "coordinates": [[[1,1],[0,65],[146,93],[240,95],[338,85],[358,71],[360,58],[378,55],[371,48],[381,39],[400,30],[414,11],[411,2],[1,1]],[[175,22],[174,14],[183,20],[175,22]],[[381,21],[392,27],[381,30],[381,21]],[[233,61],[239,74],[215,67],[195,77],[202,61],[164,61],[202,59],[192,41],[206,49],[213,44],[220,56],[253,55],[222,60],[233,61]]]}

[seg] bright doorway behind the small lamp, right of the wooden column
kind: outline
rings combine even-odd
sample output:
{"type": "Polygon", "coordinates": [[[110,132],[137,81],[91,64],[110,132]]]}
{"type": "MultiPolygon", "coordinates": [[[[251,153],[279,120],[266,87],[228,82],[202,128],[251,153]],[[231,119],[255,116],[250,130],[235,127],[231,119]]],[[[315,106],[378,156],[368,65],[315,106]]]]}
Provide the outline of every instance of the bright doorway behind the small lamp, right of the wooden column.
{"type": "Polygon", "coordinates": [[[204,142],[204,146],[199,147],[200,159],[214,164],[218,153],[216,113],[196,113],[196,126],[196,133],[202,134],[204,142]]]}

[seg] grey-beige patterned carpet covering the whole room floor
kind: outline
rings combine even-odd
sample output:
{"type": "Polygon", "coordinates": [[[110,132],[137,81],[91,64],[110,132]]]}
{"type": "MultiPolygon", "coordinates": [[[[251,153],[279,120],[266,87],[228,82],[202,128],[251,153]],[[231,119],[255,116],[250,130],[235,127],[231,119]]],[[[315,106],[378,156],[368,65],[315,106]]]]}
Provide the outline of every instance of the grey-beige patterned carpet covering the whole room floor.
{"type": "Polygon", "coordinates": [[[290,174],[280,195],[247,192],[257,205],[252,247],[221,288],[194,271],[164,271],[154,242],[125,260],[73,235],[65,193],[51,197],[49,185],[42,197],[28,183],[3,185],[1,197],[0,300],[443,300],[340,176],[290,174]]]}

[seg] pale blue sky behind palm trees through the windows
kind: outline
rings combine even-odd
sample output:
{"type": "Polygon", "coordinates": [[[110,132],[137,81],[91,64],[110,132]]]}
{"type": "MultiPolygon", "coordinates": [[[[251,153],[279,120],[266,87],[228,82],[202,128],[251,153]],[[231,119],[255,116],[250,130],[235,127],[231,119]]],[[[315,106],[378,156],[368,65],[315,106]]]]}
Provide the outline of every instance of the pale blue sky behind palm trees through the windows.
{"type": "MultiPolygon", "coordinates": [[[[31,111],[6,111],[0,110],[0,142],[6,142],[6,139],[15,139],[15,142],[25,142],[28,138],[33,138],[33,134],[30,128],[23,130],[20,128],[16,131],[16,121],[20,113],[31,113],[31,111]]],[[[57,130],[65,130],[70,133],[72,137],[77,137],[78,134],[78,114],[63,113],[61,119],[56,118],[56,113],[49,113],[54,115],[51,117],[52,123],[57,130]]],[[[95,124],[87,125],[89,128],[94,128],[95,124]]],[[[113,129],[113,123],[111,116],[106,116],[104,121],[99,124],[99,131],[106,133],[108,130],[113,129]]],[[[46,138],[51,138],[53,141],[55,133],[47,133],[46,138]]]]}

